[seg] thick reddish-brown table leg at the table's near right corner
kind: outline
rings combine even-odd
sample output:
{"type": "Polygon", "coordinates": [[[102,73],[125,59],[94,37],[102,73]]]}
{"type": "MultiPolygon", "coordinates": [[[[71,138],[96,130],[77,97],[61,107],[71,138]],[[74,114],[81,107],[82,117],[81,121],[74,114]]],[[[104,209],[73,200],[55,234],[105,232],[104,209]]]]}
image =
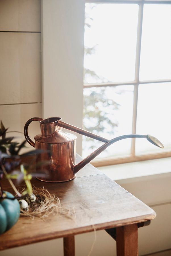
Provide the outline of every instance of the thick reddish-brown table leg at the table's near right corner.
{"type": "Polygon", "coordinates": [[[137,224],[116,228],[117,256],[138,255],[138,226],[137,224]]]}

